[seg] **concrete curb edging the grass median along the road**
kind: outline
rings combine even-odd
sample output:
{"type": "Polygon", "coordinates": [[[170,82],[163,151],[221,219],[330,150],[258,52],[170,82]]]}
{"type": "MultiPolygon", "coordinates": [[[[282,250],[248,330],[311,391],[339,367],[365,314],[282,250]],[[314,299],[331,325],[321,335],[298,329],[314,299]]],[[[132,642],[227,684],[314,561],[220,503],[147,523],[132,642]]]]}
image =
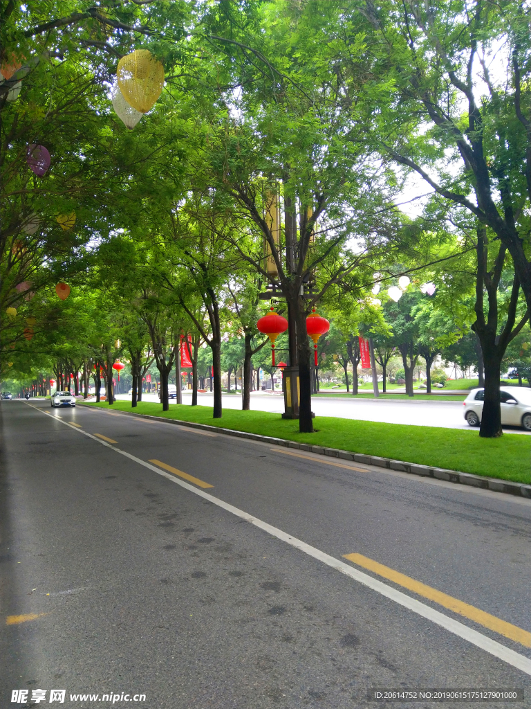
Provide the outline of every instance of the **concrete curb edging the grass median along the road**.
{"type": "MultiPolygon", "coordinates": [[[[103,411],[99,406],[91,407],[95,411],[103,411]]],[[[280,445],[285,448],[295,448],[308,453],[316,453],[319,455],[328,455],[331,458],[341,458],[342,460],[350,460],[351,462],[361,463],[364,465],[375,465],[388,470],[398,470],[411,475],[420,475],[423,477],[435,478],[436,480],[446,480],[452,483],[461,485],[470,485],[472,487],[491,490],[493,492],[503,492],[517,497],[526,497],[531,499],[531,485],[525,483],[514,483],[509,480],[501,480],[498,478],[486,478],[481,475],[473,475],[472,473],[459,473],[455,470],[447,470],[445,468],[434,468],[428,465],[420,465],[418,463],[406,463],[403,460],[393,460],[392,458],[381,458],[375,455],[364,455],[361,453],[353,453],[348,450],[338,450],[338,448],[324,448],[319,445],[310,443],[297,443],[296,441],[288,441],[283,438],[274,438],[272,436],[261,436],[258,433],[247,433],[245,431],[236,431],[232,428],[220,428],[219,426],[209,426],[206,423],[193,423],[191,421],[181,421],[176,418],[165,418],[164,416],[150,416],[145,413],[133,413],[130,411],[120,411],[126,416],[137,416],[138,418],[149,418],[164,423],[173,423],[179,426],[188,428],[198,428],[210,433],[223,433],[228,436],[236,436],[237,438],[246,438],[253,441],[261,441],[270,445],[280,445]]]]}

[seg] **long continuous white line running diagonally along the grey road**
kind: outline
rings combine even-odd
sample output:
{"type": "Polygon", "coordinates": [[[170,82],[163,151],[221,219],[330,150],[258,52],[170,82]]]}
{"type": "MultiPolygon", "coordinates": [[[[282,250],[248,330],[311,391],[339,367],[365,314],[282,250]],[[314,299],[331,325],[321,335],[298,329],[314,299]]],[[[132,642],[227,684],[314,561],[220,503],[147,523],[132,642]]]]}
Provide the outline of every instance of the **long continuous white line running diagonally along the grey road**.
{"type": "Polygon", "coordinates": [[[273,527],[273,525],[269,525],[267,522],[263,522],[262,520],[249,515],[244,512],[244,510],[240,510],[239,508],[234,507],[233,505],[230,505],[229,503],[224,502],[223,500],[220,500],[219,498],[214,497],[203,490],[185,483],[185,481],[164,472],[164,470],[161,470],[160,468],[156,468],[154,465],[137,458],[135,455],[127,453],[125,450],[120,450],[120,448],[110,445],[110,443],[105,443],[105,441],[102,441],[100,438],[96,438],[96,436],[93,436],[91,433],[87,433],[79,428],[74,428],[74,426],[70,425],[67,421],[62,420],[62,418],[59,418],[51,413],[47,413],[47,411],[42,411],[42,408],[38,408],[38,406],[33,406],[30,403],[28,403],[28,406],[35,408],[37,411],[41,411],[41,413],[50,416],[50,418],[53,418],[54,420],[64,423],[64,425],[69,426],[72,430],[92,438],[92,440],[95,440],[100,445],[104,445],[105,447],[110,448],[110,450],[120,453],[120,455],[124,455],[126,458],[129,458],[135,463],[144,466],[144,468],[152,470],[157,475],[161,475],[162,477],[171,480],[174,484],[180,485],[185,490],[188,490],[189,492],[212,502],[218,507],[227,510],[227,512],[236,515],[236,517],[246,520],[246,522],[251,523],[251,525],[258,527],[264,532],[268,532],[268,534],[272,537],[276,537],[282,542],[286,542],[286,544],[289,544],[291,547],[295,547],[295,549],[299,549],[299,551],[304,552],[304,554],[308,554],[309,557],[313,557],[314,559],[317,559],[317,561],[326,564],[326,566],[331,566],[332,569],[336,569],[336,571],[341,571],[342,574],[350,576],[350,579],[358,581],[358,583],[362,584],[362,586],[371,588],[372,591],[376,591],[381,596],[385,596],[385,598],[389,598],[391,601],[404,606],[404,608],[412,610],[413,613],[421,615],[422,618],[430,620],[432,623],[435,623],[435,625],[440,625],[440,627],[452,632],[454,635],[457,635],[457,637],[461,637],[462,640],[467,640],[467,642],[472,645],[485,650],[485,652],[489,652],[489,654],[494,657],[498,657],[498,659],[507,662],[516,669],[520,669],[525,672],[525,674],[531,675],[531,659],[529,657],[525,657],[525,655],[522,655],[519,652],[515,652],[515,650],[512,650],[509,647],[506,647],[501,644],[501,642],[492,640],[490,637],[483,635],[481,632],[478,632],[463,623],[459,623],[458,620],[454,620],[453,618],[449,618],[444,613],[440,613],[439,610],[430,608],[429,605],[421,603],[421,601],[417,601],[416,598],[411,598],[411,596],[407,596],[406,593],[397,591],[396,588],[387,586],[387,584],[382,583],[382,581],[378,581],[378,579],[373,579],[372,576],[364,574],[362,571],[359,571],[359,569],[355,569],[354,566],[350,566],[350,564],[346,564],[345,562],[340,561],[340,559],[331,557],[330,554],[321,552],[320,549],[316,549],[316,547],[312,547],[306,542],[302,542],[302,540],[297,539],[297,537],[292,537],[287,534],[287,532],[282,532],[282,530],[279,530],[278,527],[273,527]]]}

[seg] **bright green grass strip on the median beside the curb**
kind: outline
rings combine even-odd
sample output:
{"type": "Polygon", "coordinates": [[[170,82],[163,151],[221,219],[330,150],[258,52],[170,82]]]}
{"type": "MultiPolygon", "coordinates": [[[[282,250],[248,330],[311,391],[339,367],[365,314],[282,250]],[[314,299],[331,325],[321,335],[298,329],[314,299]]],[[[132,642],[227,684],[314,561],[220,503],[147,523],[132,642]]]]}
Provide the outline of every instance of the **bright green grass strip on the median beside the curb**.
{"type": "Polygon", "coordinates": [[[501,438],[480,438],[477,430],[454,430],[430,426],[375,423],[348,418],[318,417],[314,433],[299,433],[296,420],[284,420],[277,413],[227,409],[222,418],[212,418],[210,406],[175,404],[162,411],[159,403],[139,402],[132,409],[129,401],[88,403],[85,406],[135,411],[182,421],[207,423],[222,428],[274,436],[285,440],[312,443],[367,455],[421,463],[465,473],[474,473],[516,482],[531,482],[531,441],[527,435],[506,434],[501,438]]]}

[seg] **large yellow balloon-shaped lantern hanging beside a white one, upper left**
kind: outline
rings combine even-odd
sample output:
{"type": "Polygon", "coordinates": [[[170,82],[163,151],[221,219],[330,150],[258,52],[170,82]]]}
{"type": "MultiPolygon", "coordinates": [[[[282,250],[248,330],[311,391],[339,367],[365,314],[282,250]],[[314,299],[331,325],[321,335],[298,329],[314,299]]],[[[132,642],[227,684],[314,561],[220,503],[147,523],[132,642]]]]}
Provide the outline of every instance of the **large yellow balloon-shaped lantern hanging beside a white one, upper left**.
{"type": "Polygon", "coordinates": [[[161,95],[164,67],[147,49],[137,49],[120,59],[116,77],[127,103],[147,113],[161,95]]]}

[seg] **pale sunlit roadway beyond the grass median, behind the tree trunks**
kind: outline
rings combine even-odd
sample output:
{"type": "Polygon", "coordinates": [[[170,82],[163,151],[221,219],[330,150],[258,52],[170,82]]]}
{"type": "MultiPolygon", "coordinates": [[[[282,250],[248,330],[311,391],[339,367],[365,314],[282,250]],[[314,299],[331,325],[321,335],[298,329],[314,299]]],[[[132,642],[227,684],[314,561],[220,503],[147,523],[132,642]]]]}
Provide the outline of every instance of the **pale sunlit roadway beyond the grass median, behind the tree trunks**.
{"type": "MultiPolygon", "coordinates": [[[[119,394],[117,398],[130,400],[130,396],[119,394]]],[[[156,394],[142,394],[144,401],[159,401],[156,394]]],[[[183,403],[190,403],[191,393],[183,391],[183,403]]],[[[175,399],[170,399],[170,403],[175,399]]],[[[212,406],[214,397],[210,393],[198,394],[201,406],[212,406]]],[[[225,394],[224,408],[241,409],[241,396],[225,394]]],[[[284,400],[280,394],[251,395],[253,411],[271,411],[282,413],[284,400]]],[[[469,429],[463,417],[462,401],[423,401],[413,398],[413,401],[392,401],[389,399],[370,398],[312,398],[312,411],[317,416],[338,416],[340,418],[355,418],[362,421],[381,421],[382,423],[407,423],[413,426],[438,426],[441,428],[469,429]]],[[[506,433],[523,433],[530,435],[522,428],[504,427],[506,433]]]]}

